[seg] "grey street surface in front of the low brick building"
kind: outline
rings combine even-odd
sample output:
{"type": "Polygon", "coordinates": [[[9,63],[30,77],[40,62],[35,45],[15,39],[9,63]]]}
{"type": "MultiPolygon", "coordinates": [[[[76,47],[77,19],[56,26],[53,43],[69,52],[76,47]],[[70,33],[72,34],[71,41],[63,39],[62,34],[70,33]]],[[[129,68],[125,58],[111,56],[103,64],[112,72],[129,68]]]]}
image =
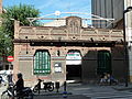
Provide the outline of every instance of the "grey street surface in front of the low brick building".
{"type": "MultiPolygon", "coordinates": [[[[63,94],[63,87],[59,92],[56,90],[52,92],[35,94],[34,99],[132,99],[132,85],[128,89],[123,89],[123,85],[117,86],[99,86],[99,85],[82,85],[82,84],[68,84],[67,95],[63,94]],[[118,90],[116,88],[122,88],[118,90]]],[[[6,87],[0,88],[0,94],[6,87]]]]}

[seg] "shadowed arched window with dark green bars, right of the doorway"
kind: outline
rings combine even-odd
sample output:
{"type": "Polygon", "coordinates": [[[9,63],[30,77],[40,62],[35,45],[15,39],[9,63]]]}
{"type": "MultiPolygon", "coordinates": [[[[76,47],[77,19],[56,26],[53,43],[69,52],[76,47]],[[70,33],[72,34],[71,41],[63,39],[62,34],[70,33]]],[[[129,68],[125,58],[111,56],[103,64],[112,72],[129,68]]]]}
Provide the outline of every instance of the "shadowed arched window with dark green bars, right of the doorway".
{"type": "Polygon", "coordinates": [[[98,52],[98,67],[97,74],[101,75],[103,73],[112,73],[111,68],[111,53],[109,51],[98,52]]]}

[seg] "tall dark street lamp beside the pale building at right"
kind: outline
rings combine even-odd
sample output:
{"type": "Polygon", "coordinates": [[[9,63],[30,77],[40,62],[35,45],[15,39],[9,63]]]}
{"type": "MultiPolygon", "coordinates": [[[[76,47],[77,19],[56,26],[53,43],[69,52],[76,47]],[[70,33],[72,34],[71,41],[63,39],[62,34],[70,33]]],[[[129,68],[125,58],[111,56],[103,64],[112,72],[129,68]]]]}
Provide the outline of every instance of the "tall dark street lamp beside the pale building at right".
{"type": "Polygon", "coordinates": [[[132,7],[128,7],[127,10],[123,11],[123,40],[124,40],[124,64],[125,64],[125,87],[128,87],[128,76],[129,76],[129,54],[128,54],[128,45],[127,45],[127,33],[125,33],[125,13],[132,11],[132,7]]]}

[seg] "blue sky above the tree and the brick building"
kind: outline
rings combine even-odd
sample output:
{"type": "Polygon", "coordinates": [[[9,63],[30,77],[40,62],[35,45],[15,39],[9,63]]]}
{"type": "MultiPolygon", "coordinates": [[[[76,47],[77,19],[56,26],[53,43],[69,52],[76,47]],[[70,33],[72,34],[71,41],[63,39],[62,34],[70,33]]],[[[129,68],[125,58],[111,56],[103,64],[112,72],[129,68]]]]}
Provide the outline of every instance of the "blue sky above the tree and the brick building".
{"type": "MultiPolygon", "coordinates": [[[[11,7],[20,3],[34,6],[35,9],[40,10],[41,16],[55,13],[55,11],[91,13],[91,0],[2,0],[3,7],[11,7]]],[[[79,16],[87,18],[86,15],[79,16]]]]}

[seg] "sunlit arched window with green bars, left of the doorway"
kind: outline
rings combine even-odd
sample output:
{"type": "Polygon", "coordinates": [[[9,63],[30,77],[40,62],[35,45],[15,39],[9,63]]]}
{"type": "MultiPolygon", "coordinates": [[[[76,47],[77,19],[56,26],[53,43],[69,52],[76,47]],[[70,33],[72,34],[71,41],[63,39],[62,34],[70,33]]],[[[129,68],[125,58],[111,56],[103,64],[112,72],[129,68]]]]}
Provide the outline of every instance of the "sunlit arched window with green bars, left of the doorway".
{"type": "Polygon", "coordinates": [[[34,75],[51,73],[51,56],[48,51],[37,50],[34,55],[34,75]]]}

